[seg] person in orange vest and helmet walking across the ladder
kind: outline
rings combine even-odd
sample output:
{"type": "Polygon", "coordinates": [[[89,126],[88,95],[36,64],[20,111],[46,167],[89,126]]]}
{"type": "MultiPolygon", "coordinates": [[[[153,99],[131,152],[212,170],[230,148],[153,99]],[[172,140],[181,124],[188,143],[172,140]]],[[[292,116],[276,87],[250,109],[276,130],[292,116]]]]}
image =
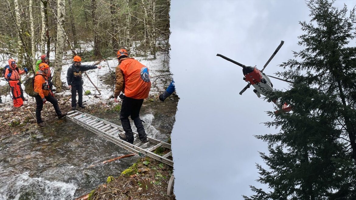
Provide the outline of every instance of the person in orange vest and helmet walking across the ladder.
{"type": "Polygon", "coordinates": [[[120,111],[121,126],[125,131],[125,137],[120,135],[119,137],[121,140],[133,144],[130,116],[137,128],[138,137],[142,142],[146,143],[147,135],[139,115],[143,99],[148,97],[151,89],[148,68],[137,60],[130,58],[126,49],[120,49],[116,56],[119,60],[119,65],[116,67],[115,102],[119,102],[117,101],[117,96],[120,95],[121,91],[125,93],[120,111]]]}

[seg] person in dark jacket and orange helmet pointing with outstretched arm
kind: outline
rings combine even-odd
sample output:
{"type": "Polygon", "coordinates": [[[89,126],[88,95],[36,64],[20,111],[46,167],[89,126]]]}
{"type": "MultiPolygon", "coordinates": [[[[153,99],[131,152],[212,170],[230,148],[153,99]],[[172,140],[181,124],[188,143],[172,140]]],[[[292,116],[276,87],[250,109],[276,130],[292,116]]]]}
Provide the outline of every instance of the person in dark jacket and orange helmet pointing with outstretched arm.
{"type": "Polygon", "coordinates": [[[85,108],[83,105],[83,79],[82,72],[89,69],[101,69],[101,66],[96,65],[82,65],[82,58],[79,56],[74,56],[73,64],[68,68],[67,71],[67,83],[68,87],[72,90],[72,109],[75,110],[77,107],[76,97],[78,92],[78,104],[79,107],[85,108]]]}

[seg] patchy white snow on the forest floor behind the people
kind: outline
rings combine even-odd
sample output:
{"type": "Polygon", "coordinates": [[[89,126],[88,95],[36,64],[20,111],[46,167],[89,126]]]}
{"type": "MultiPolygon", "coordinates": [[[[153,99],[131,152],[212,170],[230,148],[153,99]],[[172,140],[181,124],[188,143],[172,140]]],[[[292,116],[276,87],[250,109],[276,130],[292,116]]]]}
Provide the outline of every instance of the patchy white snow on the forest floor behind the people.
{"type": "MultiPolygon", "coordinates": [[[[90,46],[85,47],[87,50],[90,50],[90,46]]],[[[84,48],[82,48],[84,49],[84,48]]],[[[51,52],[52,58],[54,58],[54,52],[51,52]]],[[[40,53],[38,53],[40,55],[40,53]]],[[[70,55],[69,52],[67,52],[67,55],[70,55]]],[[[158,94],[162,93],[164,89],[168,86],[168,84],[171,81],[171,75],[169,72],[168,68],[168,54],[167,53],[162,53],[159,52],[157,53],[157,58],[153,59],[153,56],[150,55],[147,58],[146,57],[134,57],[138,61],[140,61],[143,65],[146,65],[149,69],[150,77],[151,77],[151,82],[152,82],[152,88],[150,91],[150,95],[158,96],[158,94]]],[[[67,70],[72,65],[72,57],[71,56],[63,56],[63,66],[62,66],[62,74],[61,74],[61,80],[62,82],[65,82],[67,85],[67,70]]],[[[82,65],[93,65],[94,62],[82,62],[82,65]]],[[[1,67],[4,67],[5,65],[2,65],[3,63],[0,63],[1,67]]],[[[7,63],[6,63],[7,64],[7,63]]],[[[113,94],[113,86],[112,85],[106,85],[103,83],[105,80],[105,76],[111,76],[110,72],[115,73],[115,68],[118,64],[117,59],[114,58],[108,58],[106,61],[102,61],[99,65],[102,66],[101,69],[91,69],[87,71],[88,76],[90,77],[91,81],[98,87],[98,89],[101,92],[101,95],[98,95],[98,91],[95,90],[94,86],[90,83],[89,79],[86,77],[86,75],[83,73],[83,88],[84,91],[90,90],[91,94],[90,95],[85,95],[83,92],[83,102],[84,105],[89,105],[89,104],[97,104],[97,103],[104,103],[105,101],[113,101],[113,99],[110,99],[110,96],[113,94]],[[94,95],[98,98],[94,98],[94,95]]],[[[51,67],[51,71],[52,71],[51,67]]],[[[29,77],[32,77],[32,75],[28,75],[29,77]]],[[[24,81],[26,79],[26,75],[22,75],[22,80],[24,81]]],[[[0,86],[6,85],[6,81],[4,77],[0,78],[0,86]]],[[[68,85],[67,85],[68,86],[68,85]]],[[[24,85],[22,84],[22,89],[25,89],[24,85]]],[[[27,96],[25,93],[25,98],[28,99],[28,101],[24,102],[23,106],[26,106],[28,108],[33,107],[36,105],[36,100],[34,98],[31,98],[30,96],[27,96]]],[[[69,96],[71,95],[70,90],[64,90],[61,93],[55,93],[55,95],[64,95],[64,96],[69,96]]],[[[5,102],[5,104],[0,104],[0,111],[2,110],[12,110],[12,101],[10,99],[9,92],[7,91],[6,94],[1,94],[2,102],[5,102]]],[[[77,96],[78,99],[78,96],[77,96]]],[[[70,105],[70,100],[66,103],[66,105],[70,105]]]]}

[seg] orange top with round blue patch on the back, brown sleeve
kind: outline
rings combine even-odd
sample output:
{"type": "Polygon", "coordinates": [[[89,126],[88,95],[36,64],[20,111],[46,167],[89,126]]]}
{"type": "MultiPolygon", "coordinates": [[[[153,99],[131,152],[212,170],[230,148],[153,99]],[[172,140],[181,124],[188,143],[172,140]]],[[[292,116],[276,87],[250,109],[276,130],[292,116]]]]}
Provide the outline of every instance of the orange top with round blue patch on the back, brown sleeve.
{"type": "Polygon", "coordinates": [[[151,89],[148,68],[133,58],[123,58],[116,67],[116,89],[114,97],[124,89],[125,96],[146,99],[151,89]]]}

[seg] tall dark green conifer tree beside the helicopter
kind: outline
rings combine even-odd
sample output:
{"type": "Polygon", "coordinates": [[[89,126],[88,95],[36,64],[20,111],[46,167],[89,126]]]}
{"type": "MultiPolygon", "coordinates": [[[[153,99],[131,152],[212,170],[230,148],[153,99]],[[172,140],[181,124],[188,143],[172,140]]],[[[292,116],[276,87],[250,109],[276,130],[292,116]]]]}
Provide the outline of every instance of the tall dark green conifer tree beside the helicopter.
{"type": "Polygon", "coordinates": [[[250,186],[256,194],[245,200],[356,199],[356,17],[333,3],[307,2],[311,21],[300,22],[298,42],[305,48],[278,73],[294,83],[268,96],[293,110],[269,112],[274,120],[266,125],[279,133],[256,136],[269,151],[260,153],[269,169],[257,164],[257,181],[270,191],[250,186]]]}

